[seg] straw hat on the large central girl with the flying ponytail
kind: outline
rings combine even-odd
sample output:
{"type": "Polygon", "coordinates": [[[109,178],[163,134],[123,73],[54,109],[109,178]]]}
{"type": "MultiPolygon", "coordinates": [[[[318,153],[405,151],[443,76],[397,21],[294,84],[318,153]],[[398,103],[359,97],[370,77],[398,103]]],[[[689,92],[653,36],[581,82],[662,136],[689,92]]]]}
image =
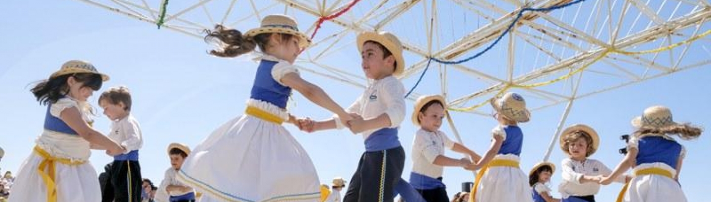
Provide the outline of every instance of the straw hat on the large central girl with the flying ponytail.
{"type": "Polygon", "coordinates": [[[311,40],[306,34],[299,32],[296,20],[291,16],[269,15],[262,19],[262,26],[253,28],[245,33],[245,36],[254,37],[260,33],[285,33],[299,37],[299,47],[306,47],[311,44],[311,40]]]}

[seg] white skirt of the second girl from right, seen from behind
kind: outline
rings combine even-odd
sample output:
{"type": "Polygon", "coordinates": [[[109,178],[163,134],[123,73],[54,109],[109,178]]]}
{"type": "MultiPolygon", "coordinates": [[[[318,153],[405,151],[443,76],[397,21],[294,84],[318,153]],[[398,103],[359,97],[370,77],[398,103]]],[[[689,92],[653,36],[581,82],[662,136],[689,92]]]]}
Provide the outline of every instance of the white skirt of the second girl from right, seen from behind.
{"type": "MultiPolygon", "coordinates": [[[[496,155],[494,159],[518,162],[516,155],[496,155]]],[[[475,201],[533,202],[528,176],[515,167],[489,167],[481,176],[475,201]]]]}

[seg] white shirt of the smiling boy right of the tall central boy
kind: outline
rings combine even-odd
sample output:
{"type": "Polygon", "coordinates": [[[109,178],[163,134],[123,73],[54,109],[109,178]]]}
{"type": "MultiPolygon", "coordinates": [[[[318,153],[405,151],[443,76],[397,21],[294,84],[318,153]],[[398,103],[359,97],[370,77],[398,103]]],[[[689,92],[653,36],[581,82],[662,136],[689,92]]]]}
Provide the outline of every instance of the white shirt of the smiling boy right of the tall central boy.
{"type": "Polygon", "coordinates": [[[412,143],[412,172],[429,176],[434,179],[442,176],[444,167],[434,164],[434,159],[444,155],[444,148],[451,150],[454,142],[442,131],[429,132],[420,128],[412,143]]]}

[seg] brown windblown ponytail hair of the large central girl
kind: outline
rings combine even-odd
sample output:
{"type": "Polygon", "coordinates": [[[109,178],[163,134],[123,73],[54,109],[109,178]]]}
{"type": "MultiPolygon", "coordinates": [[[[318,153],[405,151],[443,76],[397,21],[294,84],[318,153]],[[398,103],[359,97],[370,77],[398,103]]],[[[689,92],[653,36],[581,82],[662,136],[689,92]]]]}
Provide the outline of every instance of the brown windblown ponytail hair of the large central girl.
{"type": "MultiPolygon", "coordinates": [[[[262,52],[267,50],[269,37],[273,33],[260,33],[253,37],[242,35],[240,30],[225,28],[223,25],[216,25],[214,30],[205,30],[205,43],[218,46],[218,50],[210,50],[210,55],[218,57],[237,57],[247,52],[252,52],[255,47],[260,47],[262,52]]],[[[290,40],[294,35],[279,33],[282,40],[290,40]]]]}

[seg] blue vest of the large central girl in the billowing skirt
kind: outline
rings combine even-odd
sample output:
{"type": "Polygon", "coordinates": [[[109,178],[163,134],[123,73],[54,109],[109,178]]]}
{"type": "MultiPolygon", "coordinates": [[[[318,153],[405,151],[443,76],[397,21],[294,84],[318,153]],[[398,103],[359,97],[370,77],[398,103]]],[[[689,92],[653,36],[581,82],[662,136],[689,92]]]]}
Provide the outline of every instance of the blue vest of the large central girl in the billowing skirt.
{"type": "Polygon", "coordinates": [[[292,94],[292,89],[288,86],[282,86],[272,77],[272,69],[274,69],[274,64],[277,63],[279,62],[270,60],[262,60],[260,62],[250,98],[272,103],[275,106],[279,106],[279,108],[287,108],[287,101],[292,94]]]}

